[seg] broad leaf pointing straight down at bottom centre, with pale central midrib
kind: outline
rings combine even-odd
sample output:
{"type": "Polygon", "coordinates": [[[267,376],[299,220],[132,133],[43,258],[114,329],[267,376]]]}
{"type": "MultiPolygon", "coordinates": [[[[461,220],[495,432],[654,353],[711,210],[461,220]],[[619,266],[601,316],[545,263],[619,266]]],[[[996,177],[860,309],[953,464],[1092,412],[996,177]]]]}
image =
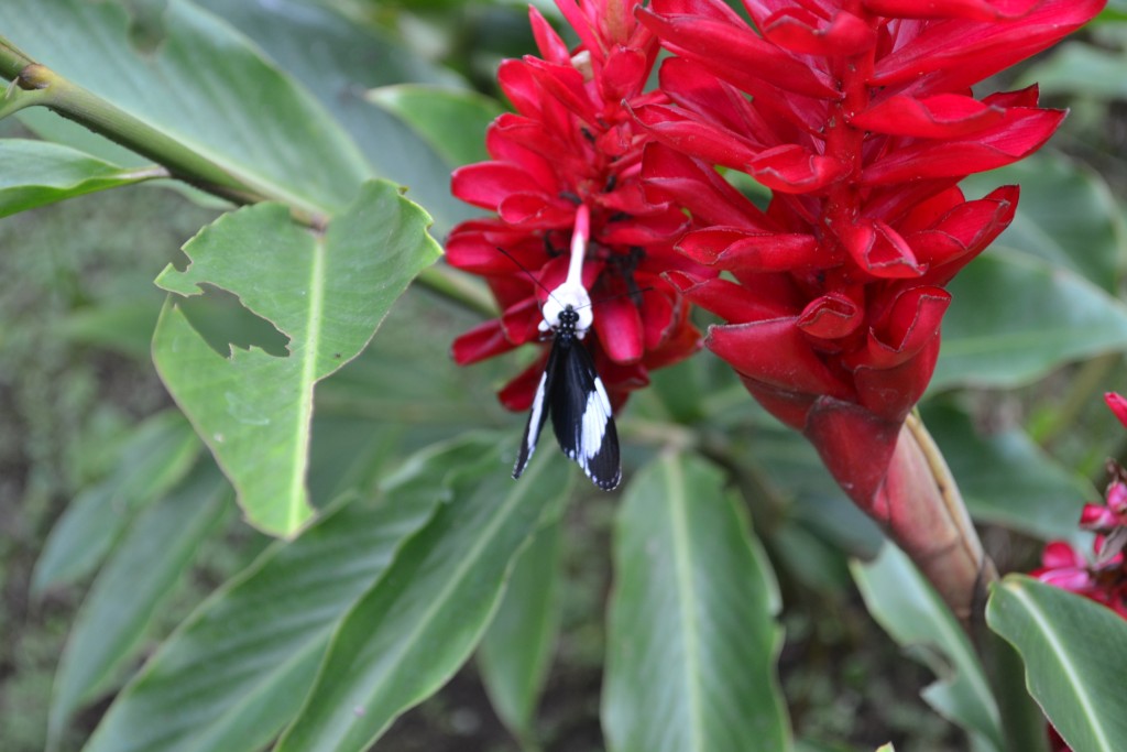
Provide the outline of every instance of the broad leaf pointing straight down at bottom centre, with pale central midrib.
{"type": "Polygon", "coordinates": [[[779,594],[724,476],[668,454],[638,472],[614,530],[607,749],[791,746],[775,661],[779,594]]]}

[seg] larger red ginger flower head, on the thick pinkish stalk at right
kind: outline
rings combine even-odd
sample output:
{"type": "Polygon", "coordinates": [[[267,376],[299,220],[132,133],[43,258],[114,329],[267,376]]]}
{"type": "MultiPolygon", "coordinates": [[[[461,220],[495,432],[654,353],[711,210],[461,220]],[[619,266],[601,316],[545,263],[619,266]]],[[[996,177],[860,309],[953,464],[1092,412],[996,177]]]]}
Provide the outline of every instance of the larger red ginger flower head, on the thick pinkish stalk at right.
{"type": "MultiPolygon", "coordinates": [[[[678,244],[731,280],[671,274],[728,321],[707,345],[817,446],[870,511],[931,379],[948,282],[1013,219],[1015,186],[971,172],[1037,150],[1064,113],[1036,88],[970,85],[1080,27],[1103,0],[654,0],[672,101],[635,104],[656,143],[647,195],[687,207],[678,244]],[[747,96],[749,95],[749,97],[747,96]],[[758,209],[713,169],[771,188],[758,209]]],[[[894,501],[895,503],[895,501],[894,501]]]]}

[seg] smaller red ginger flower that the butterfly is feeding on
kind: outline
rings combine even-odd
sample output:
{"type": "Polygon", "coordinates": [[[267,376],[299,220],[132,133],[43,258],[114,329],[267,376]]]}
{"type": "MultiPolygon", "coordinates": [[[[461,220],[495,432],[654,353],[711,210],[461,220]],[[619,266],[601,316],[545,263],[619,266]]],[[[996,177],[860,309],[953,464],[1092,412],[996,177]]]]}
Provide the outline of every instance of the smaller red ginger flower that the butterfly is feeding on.
{"type": "MultiPolygon", "coordinates": [[[[541,307],[547,291],[567,275],[567,251],[585,206],[591,235],[583,283],[594,301],[595,335],[586,343],[619,406],[630,390],[648,383],[648,369],[700,347],[687,302],[660,275],[710,272],[673,249],[687,224],[684,213],[648,202],[641,188],[649,136],[624,103],[667,101],[642,90],[657,56],[656,37],[635,20],[627,0],[557,5],[579,46],[568,50],[530,9],[542,59],[502,64],[498,80],[516,113],[489,127],[492,161],[453,175],[454,195],[497,216],[454,228],[446,258],[485,276],[503,311],[459,337],[453,353],[458,363],[468,364],[541,339],[541,307]]],[[[544,357],[547,352],[502,389],[506,407],[529,407],[544,357]]]]}

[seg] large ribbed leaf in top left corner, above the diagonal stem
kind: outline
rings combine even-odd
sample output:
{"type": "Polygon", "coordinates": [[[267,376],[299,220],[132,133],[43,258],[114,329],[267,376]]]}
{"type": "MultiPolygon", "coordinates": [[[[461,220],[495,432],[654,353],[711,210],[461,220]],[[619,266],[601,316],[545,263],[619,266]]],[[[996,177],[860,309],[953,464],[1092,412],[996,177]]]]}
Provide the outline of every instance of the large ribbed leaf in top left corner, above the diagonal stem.
{"type": "Polygon", "coordinates": [[[128,24],[113,2],[0,3],[0,34],[33,59],[255,191],[331,213],[373,176],[323,108],[213,15],[170,0],[152,55],[128,24]]]}

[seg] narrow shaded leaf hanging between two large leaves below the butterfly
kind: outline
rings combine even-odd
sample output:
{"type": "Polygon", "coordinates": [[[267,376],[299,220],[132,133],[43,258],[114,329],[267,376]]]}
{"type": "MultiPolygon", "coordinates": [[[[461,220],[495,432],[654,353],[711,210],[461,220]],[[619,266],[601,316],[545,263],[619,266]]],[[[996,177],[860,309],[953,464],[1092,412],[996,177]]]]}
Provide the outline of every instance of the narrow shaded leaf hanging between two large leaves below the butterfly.
{"type": "Polygon", "coordinates": [[[532,538],[513,565],[505,598],[478,648],[494,709],[526,746],[559,628],[559,524],[532,538]]]}

